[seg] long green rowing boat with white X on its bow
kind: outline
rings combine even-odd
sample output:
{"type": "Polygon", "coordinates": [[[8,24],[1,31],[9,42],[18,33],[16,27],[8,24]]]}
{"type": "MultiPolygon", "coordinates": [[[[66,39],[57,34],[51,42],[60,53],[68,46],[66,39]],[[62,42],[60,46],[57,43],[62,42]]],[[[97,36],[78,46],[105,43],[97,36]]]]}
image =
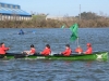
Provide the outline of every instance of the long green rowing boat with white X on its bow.
{"type": "Polygon", "coordinates": [[[7,53],[4,58],[12,59],[12,58],[25,58],[25,59],[63,59],[63,60],[85,60],[85,59],[108,59],[108,52],[95,52],[93,54],[71,54],[70,56],[63,56],[60,54],[53,54],[49,56],[43,56],[39,54],[35,55],[23,55],[17,53],[7,53]]]}

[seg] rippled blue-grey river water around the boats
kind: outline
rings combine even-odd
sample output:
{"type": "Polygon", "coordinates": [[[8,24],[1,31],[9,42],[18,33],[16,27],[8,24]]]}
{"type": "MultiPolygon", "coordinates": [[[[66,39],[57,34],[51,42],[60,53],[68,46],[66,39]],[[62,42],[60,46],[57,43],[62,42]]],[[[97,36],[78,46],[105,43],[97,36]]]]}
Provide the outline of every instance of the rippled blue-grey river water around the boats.
{"type": "MultiPolygon", "coordinates": [[[[31,44],[40,52],[47,43],[51,45],[52,53],[63,51],[66,43],[71,44],[73,52],[76,48],[76,41],[70,41],[70,29],[25,28],[24,36],[17,35],[19,30],[0,29],[0,42],[5,42],[11,48],[9,52],[29,50],[31,44]]],[[[94,51],[109,52],[109,28],[80,28],[78,35],[84,51],[86,43],[90,42],[94,51]]],[[[109,62],[0,60],[0,81],[109,81],[109,62]]]]}

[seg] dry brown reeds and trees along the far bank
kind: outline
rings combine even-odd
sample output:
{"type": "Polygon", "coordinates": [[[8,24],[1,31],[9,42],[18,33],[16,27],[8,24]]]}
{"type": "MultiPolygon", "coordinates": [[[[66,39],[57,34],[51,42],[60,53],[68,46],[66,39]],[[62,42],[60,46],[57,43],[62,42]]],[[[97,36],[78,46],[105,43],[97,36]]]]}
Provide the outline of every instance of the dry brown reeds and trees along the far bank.
{"type": "Polygon", "coordinates": [[[83,12],[77,16],[64,15],[62,19],[46,19],[48,15],[33,14],[29,21],[0,21],[0,28],[59,28],[62,25],[70,27],[77,23],[80,27],[109,27],[109,16],[104,14],[96,14],[94,12],[83,12]]]}

